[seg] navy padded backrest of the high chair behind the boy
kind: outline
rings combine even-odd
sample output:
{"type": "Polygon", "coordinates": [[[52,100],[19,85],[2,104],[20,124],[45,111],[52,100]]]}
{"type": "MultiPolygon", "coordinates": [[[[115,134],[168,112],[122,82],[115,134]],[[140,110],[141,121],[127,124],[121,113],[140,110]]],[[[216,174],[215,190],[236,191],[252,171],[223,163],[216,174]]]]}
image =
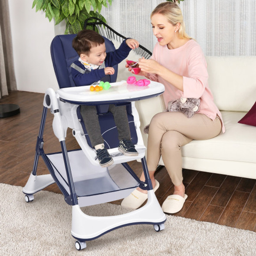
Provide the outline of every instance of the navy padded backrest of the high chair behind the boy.
{"type": "MultiPolygon", "coordinates": [[[[72,47],[72,40],[76,34],[59,35],[53,38],[51,43],[51,56],[53,61],[53,68],[59,84],[59,88],[73,87],[75,83],[71,75],[70,65],[78,59],[78,54],[72,47]]],[[[114,44],[105,38],[106,51],[111,52],[115,50],[114,44]]],[[[113,67],[115,69],[114,75],[106,75],[102,81],[116,82],[118,65],[113,67]]]]}

